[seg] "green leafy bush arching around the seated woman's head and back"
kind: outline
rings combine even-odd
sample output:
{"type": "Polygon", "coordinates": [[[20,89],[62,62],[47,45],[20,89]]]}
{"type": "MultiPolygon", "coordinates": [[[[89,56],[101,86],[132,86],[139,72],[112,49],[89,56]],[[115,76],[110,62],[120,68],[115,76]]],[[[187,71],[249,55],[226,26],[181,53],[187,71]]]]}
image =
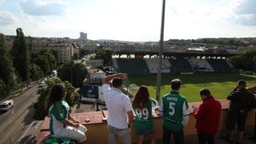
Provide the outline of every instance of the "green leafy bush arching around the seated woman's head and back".
{"type": "Polygon", "coordinates": [[[73,107],[79,100],[79,94],[75,91],[75,88],[72,87],[69,82],[63,82],[58,77],[52,77],[48,79],[47,87],[41,87],[37,91],[37,93],[40,95],[37,99],[37,103],[34,104],[34,108],[36,109],[34,118],[37,120],[44,119],[47,116],[48,110],[46,109],[46,100],[50,88],[57,83],[63,83],[65,87],[67,87],[66,100],[69,103],[69,107],[73,107]]]}

